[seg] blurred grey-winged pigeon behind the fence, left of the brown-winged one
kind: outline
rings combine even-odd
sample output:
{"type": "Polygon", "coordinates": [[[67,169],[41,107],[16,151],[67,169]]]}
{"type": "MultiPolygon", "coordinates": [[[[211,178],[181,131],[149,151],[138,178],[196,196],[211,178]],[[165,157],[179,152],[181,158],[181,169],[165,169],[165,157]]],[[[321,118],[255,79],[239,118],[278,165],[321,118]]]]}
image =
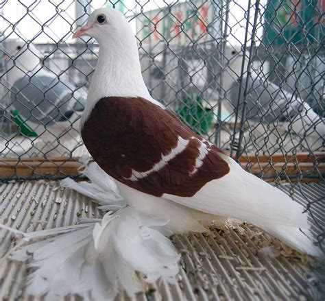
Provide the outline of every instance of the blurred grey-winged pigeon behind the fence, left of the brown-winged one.
{"type": "Polygon", "coordinates": [[[64,143],[77,138],[86,90],[71,84],[66,75],[58,77],[45,67],[40,60],[42,53],[32,43],[9,40],[4,43],[3,52],[3,82],[10,103],[38,134],[38,147],[44,145],[43,152],[47,152],[47,148],[54,149],[57,139],[64,143]]]}

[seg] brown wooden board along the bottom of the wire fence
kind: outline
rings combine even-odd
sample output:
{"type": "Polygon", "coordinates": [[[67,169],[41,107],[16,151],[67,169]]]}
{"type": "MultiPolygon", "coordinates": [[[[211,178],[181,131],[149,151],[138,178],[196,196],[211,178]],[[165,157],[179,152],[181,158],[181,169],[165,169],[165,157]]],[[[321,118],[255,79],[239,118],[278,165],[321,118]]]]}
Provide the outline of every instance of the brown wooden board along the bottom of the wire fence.
{"type": "MultiPolygon", "coordinates": [[[[77,176],[81,163],[73,158],[4,158],[0,159],[0,178],[47,178],[77,176]]],[[[325,153],[273,154],[272,156],[249,154],[239,159],[241,166],[265,180],[292,179],[318,182],[325,173],[325,153]],[[301,179],[300,179],[300,178],[301,179]]]]}

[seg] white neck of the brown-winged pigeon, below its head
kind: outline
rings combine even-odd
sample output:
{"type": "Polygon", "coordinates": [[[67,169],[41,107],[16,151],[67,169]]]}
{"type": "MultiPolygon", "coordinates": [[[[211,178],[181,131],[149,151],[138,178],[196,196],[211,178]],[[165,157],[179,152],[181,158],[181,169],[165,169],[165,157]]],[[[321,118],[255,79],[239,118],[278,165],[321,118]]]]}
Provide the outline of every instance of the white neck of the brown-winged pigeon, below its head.
{"type": "Polygon", "coordinates": [[[103,97],[151,98],[143,81],[139,53],[135,47],[99,48],[97,66],[91,80],[82,124],[103,97]]]}

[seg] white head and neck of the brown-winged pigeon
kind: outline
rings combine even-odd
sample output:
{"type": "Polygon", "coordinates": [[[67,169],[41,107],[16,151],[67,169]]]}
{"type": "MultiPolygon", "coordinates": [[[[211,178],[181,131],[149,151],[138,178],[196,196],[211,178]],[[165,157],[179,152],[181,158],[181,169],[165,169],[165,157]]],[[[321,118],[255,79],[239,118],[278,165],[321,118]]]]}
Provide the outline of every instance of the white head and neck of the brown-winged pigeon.
{"type": "Polygon", "coordinates": [[[102,97],[151,99],[141,73],[136,37],[128,20],[118,10],[99,8],[88,17],[73,38],[91,36],[99,44],[99,56],[88,90],[82,124],[102,97]]]}

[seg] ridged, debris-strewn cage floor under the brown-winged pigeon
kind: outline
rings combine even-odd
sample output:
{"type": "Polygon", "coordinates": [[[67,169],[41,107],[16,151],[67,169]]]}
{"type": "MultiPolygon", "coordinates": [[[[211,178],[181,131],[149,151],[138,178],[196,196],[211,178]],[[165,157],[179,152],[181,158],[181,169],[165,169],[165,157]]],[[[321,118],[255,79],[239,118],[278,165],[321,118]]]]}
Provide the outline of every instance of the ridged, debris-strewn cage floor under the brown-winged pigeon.
{"type": "MultiPolygon", "coordinates": [[[[280,187],[289,191],[289,185],[280,187]]],[[[325,184],[302,184],[302,192],[313,203],[311,211],[325,226],[325,184]]],[[[0,186],[0,221],[23,231],[68,226],[79,217],[100,217],[90,199],[58,186],[58,181],[10,182],[0,186]]],[[[295,198],[304,204],[302,194],[295,198]]],[[[0,258],[14,238],[0,231],[0,258]]],[[[182,254],[176,285],[157,282],[148,285],[138,300],[324,300],[320,274],[308,256],[282,245],[276,239],[247,224],[211,228],[208,234],[173,237],[182,254]],[[274,245],[276,257],[264,256],[261,248],[274,245]]],[[[0,267],[1,300],[35,300],[24,296],[25,269],[20,263],[0,267]]],[[[324,279],[323,279],[324,280],[324,279]]],[[[69,300],[79,300],[75,296],[69,300]]],[[[121,295],[119,300],[128,300],[121,295]]]]}

